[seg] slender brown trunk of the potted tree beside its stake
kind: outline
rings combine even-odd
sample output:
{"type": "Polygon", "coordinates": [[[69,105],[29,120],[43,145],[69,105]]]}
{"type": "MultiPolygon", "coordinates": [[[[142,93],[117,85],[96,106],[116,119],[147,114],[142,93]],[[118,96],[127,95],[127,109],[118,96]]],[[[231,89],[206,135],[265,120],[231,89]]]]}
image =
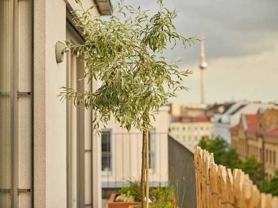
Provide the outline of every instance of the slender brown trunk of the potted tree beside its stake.
{"type": "Polygon", "coordinates": [[[142,167],[141,167],[141,208],[146,208],[145,207],[146,141],[147,141],[147,131],[143,131],[142,167]]]}

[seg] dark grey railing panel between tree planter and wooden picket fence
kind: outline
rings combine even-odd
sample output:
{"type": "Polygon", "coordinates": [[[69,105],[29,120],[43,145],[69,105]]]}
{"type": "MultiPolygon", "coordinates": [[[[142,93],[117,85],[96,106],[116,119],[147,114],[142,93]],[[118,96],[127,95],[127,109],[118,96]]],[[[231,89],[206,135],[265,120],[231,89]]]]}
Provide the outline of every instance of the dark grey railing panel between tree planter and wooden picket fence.
{"type": "Polygon", "coordinates": [[[168,135],[168,157],[169,179],[179,206],[197,207],[194,153],[168,135]]]}

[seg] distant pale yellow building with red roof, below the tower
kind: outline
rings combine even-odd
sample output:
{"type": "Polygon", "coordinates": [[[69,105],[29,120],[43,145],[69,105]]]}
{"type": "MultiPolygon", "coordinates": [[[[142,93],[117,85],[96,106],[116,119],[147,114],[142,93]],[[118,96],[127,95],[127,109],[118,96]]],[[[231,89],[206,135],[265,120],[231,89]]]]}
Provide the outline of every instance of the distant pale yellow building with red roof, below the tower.
{"type": "Polygon", "coordinates": [[[187,118],[169,125],[169,134],[190,150],[194,150],[203,136],[212,137],[212,133],[212,123],[207,117],[187,118]]]}

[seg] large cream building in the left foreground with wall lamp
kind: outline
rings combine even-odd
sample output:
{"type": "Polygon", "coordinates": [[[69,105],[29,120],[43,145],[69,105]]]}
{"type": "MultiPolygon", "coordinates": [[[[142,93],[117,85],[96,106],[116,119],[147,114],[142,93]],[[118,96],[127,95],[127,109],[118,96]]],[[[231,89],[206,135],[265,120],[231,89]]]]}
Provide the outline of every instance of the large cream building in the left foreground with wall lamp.
{"type": "MultiPolygon", "coordinates": [[[[109,0],[82,4],[111,14],[109,0]]],[[[101,207],[93,113],[57,97],[61,86],[95,86],[78,82],[79,58],[55,51],[59,40],[83,42],[72,8],[74,0],[0,1],[0,207],[101,207]]]]}

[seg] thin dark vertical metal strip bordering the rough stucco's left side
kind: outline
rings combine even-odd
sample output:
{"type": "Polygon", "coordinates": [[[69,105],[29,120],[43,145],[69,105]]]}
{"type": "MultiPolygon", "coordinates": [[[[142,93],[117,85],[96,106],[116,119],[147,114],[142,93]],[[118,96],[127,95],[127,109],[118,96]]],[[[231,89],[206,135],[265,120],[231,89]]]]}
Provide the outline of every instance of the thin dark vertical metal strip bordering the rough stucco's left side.
{"type": "Polygon", "coordinates": [[[32,1],[31,49],[31,207],[34,208],[34,0],[32,1]]]}

